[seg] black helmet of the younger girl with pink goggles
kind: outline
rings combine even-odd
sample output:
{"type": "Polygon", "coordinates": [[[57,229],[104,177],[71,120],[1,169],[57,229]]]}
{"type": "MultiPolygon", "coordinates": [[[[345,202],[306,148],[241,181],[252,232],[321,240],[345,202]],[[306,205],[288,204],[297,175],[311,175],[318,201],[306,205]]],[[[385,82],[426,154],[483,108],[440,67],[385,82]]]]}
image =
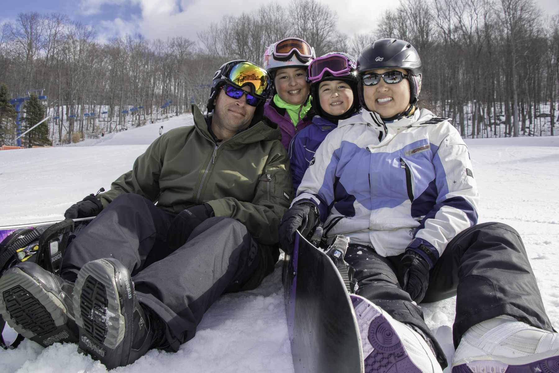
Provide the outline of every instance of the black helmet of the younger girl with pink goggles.
{"type": "Polygon", "coordinates": [[[320,81],[311,83],[310,97],[311,97],[311,105],[312,105],[312,108],[314,109],[314,112],[315,112],[316,115],[320,115],[320,117],[323,117],[324,119],[327,119],[331,122],[337,122],[338,120],[348,119],[353,114],[359,112],[359,110],[361,110],[361,104],[359,103],[359,95],[358,95],[358,92],[357,92],[357,72],[356,72],[356,69],[354,68],[355,63],[356,63],[355,58],[353,58],[353,56],[351,56],[347,53],[343,53],[343,52],[326,53],[325,55],[323,55],[321,57],[325,57],[325,56],[328,56],[328,55],[331,55],[331,54],[343,55],[345,58],[350,60],[350,62],[352,62],[353,64],[350,66],[349,72],[345,75],[335,76],[335,75],[331,74],[330,72],[326,71],[323,75],[323,78],[320,79],[320,81]],[[320,98],[319,98],[318,89],[319,89],[320,83],[325,82],[325,81],[346,82],[346,83],[349,84],[349,87],[352,89],[352,91],[353,91],[353,103],[352,103],[352,106],[349,107],[349,110],[344,112],[344,114],[342,114],[342,115],[330,115],[326,111],[323,110],[322,106],[320,106],[320,98]]]}

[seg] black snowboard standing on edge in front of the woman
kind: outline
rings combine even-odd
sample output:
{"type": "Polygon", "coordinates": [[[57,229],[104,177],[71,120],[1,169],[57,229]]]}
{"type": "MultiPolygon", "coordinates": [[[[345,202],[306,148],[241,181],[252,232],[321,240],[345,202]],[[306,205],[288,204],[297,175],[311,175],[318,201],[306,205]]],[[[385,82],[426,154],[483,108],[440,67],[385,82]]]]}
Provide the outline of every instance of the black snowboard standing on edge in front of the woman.
{"type": "Polygon", "coordinates": [[[286,254],[283,285],[295,372],[363,372],[357,319],[342,277],[299,232],[293,254],[286,254]]]}

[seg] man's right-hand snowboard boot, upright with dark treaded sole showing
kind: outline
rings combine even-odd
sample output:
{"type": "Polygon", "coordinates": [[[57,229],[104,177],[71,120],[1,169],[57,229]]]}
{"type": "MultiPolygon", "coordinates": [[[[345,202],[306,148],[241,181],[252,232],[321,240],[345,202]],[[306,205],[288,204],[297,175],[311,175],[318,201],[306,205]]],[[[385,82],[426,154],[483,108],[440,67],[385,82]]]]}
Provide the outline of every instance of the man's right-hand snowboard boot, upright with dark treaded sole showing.
{"type": "Polygon", "coordinates": [[[125,366],[151,347],[154,328],[141,308],[127,268],[117,259],[86,263],[74,290],[78,351],[107,369],[125,366]]]}

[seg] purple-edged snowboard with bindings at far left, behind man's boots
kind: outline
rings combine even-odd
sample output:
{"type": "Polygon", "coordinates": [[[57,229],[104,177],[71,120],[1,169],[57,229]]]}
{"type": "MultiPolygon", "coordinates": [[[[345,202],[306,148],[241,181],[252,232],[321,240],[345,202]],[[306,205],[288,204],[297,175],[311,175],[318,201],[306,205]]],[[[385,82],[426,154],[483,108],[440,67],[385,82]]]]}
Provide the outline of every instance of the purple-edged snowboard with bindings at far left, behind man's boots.
{"type": "MultiPolygon", "coordinates": [[[[59,272],[65,248],[92,219],[0,226],[0,275],[7,268],[25,261],[42,263],[45,269],[59,272]]],[[[4,322],[1,315],[0,330],[0,346],[3,348],[15,348],[23,341],[23,336],[4,322]]]]}

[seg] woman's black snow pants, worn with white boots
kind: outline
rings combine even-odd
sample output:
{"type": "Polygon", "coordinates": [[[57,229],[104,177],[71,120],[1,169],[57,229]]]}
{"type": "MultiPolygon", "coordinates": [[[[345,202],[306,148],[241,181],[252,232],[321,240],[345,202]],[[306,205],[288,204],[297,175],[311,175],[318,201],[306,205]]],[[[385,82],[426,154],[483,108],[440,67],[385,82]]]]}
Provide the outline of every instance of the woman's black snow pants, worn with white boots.
{"type": "MultiPolygon", "coordinates": [[[[396,278],[404,254],[382,257],[374,249],[350,244],[345,261],[355,268],[357,294],[371,300],[394,319],[414,325],[435,342],[437,360],[446,361],[442,349],[396,278]],[[361,252],[361,253],[359,253],[361,252]]],[[[543,307],[536,277],[517,231],[506,224],[473,225],[456,235],[429,272],[424,303],[456,295],[454,347],[473,325],[499,315],[553,331],[543,307]]]]}

